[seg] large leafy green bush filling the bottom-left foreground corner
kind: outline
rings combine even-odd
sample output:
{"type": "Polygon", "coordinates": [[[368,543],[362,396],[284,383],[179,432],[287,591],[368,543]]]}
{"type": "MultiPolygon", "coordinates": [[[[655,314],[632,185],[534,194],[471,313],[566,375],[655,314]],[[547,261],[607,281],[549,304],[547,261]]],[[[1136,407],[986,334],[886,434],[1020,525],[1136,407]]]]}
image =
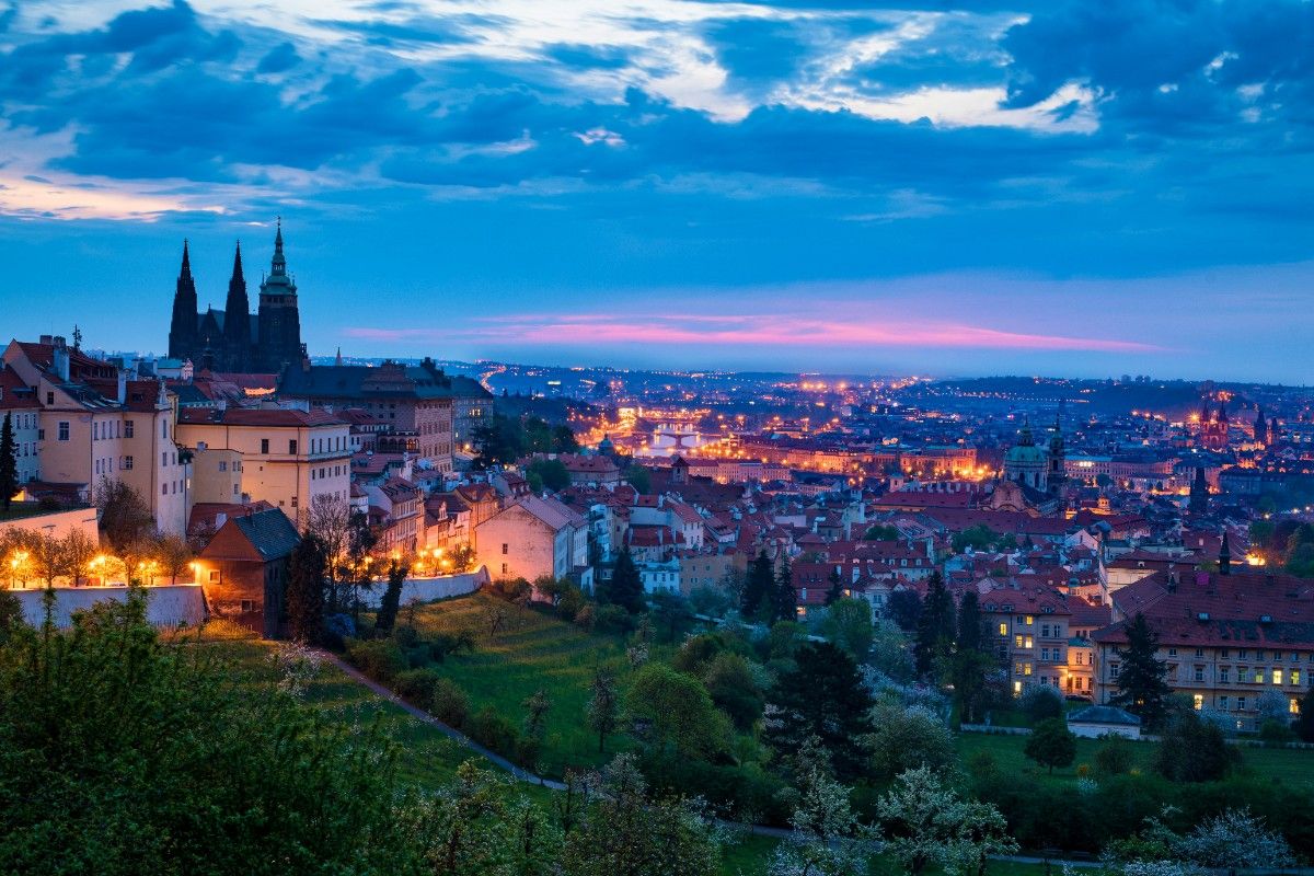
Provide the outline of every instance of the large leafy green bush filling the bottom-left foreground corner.
{"type": "Polygon", "coordinates": [[[21,768],[11,758],[0,770],[5,872],[49,872],[55,858],[116,876],[420,863],[396,829],[390,739],[162,642],[142,592],[79,613],[72,629],[22,626],[0,645],[0,738],[24,753],[21,768]]]}

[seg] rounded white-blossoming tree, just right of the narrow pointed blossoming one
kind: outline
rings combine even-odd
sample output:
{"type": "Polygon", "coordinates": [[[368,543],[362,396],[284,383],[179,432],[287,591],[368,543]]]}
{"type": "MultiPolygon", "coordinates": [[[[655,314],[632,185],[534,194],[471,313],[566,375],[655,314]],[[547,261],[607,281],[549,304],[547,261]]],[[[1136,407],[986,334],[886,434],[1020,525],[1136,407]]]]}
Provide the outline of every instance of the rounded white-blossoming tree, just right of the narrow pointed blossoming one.
{"type": "Polygon", "coordinates": [[[962,800],[925,767],[900,774],[876,810],[884,850],[909,876],[933,864],[955,876],[980,876],[989,855],[1017,851],[1008,822],[993,805],[962,800]]]}

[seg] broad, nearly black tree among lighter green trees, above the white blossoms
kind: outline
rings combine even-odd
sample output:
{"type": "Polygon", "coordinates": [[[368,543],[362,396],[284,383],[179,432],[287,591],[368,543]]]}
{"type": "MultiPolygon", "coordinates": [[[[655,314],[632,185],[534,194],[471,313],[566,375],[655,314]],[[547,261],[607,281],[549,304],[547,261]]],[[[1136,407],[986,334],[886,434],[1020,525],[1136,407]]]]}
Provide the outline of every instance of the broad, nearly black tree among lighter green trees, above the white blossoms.
{"type": "Polygon", "coordinates": [[[871,695],[853,658],[829,642],[807,642],[781,674],[766,713],[766,739],[779,753],[816,737],[841,777],[862,775],[861,739],[871,730],[871,695]]]}

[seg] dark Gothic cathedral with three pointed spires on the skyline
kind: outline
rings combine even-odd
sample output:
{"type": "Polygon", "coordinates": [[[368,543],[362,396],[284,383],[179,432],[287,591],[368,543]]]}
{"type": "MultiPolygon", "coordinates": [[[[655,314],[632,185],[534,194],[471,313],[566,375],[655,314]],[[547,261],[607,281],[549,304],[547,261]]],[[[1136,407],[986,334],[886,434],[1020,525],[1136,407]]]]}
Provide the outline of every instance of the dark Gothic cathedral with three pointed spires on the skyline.
{"type": "Polygon", "coordinates": [[[283,255],[283,222],[273,238],[273,261],[260,281],[260,299],[251,313],[242,244],[233,257],[233,276],[223,310],[197,307],[196,280],[188,244],[183,242],[183,268],[173,293],[173,318],[168,332],[171,359],[191,360],[200,370],[238,374],[277,374],[300,364],[306,355],[301,343],[297,284],[283,255]]]}

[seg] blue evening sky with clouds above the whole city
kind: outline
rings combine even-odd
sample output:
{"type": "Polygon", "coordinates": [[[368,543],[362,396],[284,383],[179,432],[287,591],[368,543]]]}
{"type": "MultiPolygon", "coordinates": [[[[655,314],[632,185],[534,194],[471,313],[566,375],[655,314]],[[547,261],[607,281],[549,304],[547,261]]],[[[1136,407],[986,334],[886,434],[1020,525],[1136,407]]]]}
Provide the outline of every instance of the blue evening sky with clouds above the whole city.
{"type": "Polygon", "coordinates": [[[1314,383],[1309,0],[4,4],[4,335],[1314,383]]]}

